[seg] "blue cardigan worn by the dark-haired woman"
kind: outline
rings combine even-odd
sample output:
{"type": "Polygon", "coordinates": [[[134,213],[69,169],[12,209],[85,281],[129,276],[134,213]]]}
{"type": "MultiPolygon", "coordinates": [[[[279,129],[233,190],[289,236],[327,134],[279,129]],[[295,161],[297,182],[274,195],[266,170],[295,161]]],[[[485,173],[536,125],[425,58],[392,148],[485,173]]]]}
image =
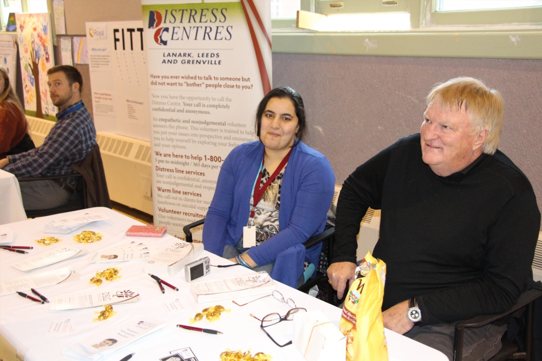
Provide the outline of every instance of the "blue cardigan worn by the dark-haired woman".
{"type": "MultiPolygon", "coordinates": [[[[234,148],[225,159],[203,227],[205,250],[222,256],[224,246],[235,246],[243,235],[263,150],[260,141],[244,143],[234,148]]],[[[251,247],[248,251],[250,258],[258,265],[273,262],[282,251],[322,232],[334,186],[335,175],[324,155],[303,142],[293,147],[282,178],[280,232],[261,245],[251,247]]],[[[297,253],[301,250],[300,247],[294,249],[297,253]]],[[[321,245],[311,247],[307,250],[306,260],[318,265],[320,250],[321,245]]],[[[292,254],[292,250],[289,254],[292,254]]],[[[290,267],[289,270],[277,270],[276,274],[281,274],[280,278],[286,277],[290,280],[286,284],[292,285],[291,280],[301,275],[300,270],[302,268],[290,267]]]]}

